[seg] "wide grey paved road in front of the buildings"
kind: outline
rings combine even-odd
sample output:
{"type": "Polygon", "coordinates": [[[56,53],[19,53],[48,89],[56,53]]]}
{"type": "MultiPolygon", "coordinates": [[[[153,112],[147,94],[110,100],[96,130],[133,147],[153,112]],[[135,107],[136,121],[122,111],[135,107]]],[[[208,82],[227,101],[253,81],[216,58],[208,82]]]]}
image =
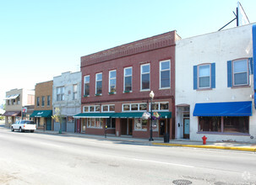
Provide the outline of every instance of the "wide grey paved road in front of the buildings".
{"type": "Polygon", "coordinates": [[[134,145],[3,127],[0,141],[0,184],[256,185],[253,152],[134,145]]]}

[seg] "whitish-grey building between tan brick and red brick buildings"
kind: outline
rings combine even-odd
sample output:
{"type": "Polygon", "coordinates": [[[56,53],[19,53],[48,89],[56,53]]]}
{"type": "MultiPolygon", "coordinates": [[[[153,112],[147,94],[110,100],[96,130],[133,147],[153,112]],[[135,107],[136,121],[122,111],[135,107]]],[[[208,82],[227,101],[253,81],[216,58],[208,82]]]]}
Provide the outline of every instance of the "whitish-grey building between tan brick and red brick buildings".
{"type": "MultiPolygon", "coordinates": [[[[81,112],[81,72],[63,72],[61,76],[53,77],[52,112],[60,108],[62,115],[62,131],[74,132],[73,116],[81,112]]],[[[59,123],[54,123],[54,130],[60,129],[59,123]]]]}

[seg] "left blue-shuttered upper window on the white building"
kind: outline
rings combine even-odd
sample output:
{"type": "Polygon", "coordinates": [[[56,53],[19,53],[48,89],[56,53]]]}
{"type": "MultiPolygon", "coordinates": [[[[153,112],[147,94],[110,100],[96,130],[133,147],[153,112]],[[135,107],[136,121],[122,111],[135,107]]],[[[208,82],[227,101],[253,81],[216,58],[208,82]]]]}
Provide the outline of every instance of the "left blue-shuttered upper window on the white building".
{"type": "Polygon", "coordinates": [[[193,66],[193,89],[215,88],[215,63],[193,66]]]}

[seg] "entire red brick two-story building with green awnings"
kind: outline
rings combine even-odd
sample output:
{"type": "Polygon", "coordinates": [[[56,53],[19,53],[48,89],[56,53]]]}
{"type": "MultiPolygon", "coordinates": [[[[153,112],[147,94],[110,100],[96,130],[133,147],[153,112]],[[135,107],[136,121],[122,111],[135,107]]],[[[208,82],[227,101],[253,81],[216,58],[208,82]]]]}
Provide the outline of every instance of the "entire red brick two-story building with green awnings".
{"type": "Polygon", "coordinates": [[[78,132],[148,138],[150,91],[154,112],[153,136],[174,134],[176,31],[120,45],[81,57],[82,98],[78,132]],[[107,130],[106,130],[107,126],[107,130]]]}

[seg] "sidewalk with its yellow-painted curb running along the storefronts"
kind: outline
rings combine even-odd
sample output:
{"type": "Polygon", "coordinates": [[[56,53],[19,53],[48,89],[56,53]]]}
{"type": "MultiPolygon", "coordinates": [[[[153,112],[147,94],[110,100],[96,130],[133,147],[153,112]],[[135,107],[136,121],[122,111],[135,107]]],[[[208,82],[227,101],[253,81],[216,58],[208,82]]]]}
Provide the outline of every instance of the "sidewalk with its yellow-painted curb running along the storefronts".
{"type": "Polygon", "coordinates": [[[162,145],[162,146],[182,146],[182,147],[193,147],[193,148],[206,148],[206,149],[221,149],[221,150],[230,150],[230,151],[253,151],[256,152],[256,143],[241,143],[241,142],[206,142],[206,145],[203,145],[203,141],[193,141],[193,140],[170,140],[169,143],[164,143],[163,138],[154,138],[153,142],[150,142],[148,139],[139,139],[133,138],[131,136],[120,136],[115,135],[86,135],[79,133],[68,133],[63,132],[63,134],[58,134],[57,131],[49,130],[39,130],[36,129],[35,133],[47,134],[47,135],[63,135],[63,136],[73,136],[73,137],[84,137],[89,139],[97,140],[115,140],[123,141],[130,144],[138,145],[162,145]]]}

